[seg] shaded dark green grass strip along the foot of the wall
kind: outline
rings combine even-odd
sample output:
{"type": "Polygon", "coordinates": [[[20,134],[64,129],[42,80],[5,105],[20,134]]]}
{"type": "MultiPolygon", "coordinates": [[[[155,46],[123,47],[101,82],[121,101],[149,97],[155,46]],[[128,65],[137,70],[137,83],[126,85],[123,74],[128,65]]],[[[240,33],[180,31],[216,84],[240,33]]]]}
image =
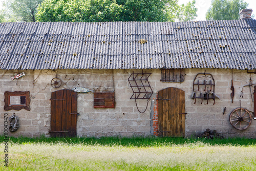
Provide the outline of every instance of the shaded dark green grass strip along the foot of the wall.
{"type": "MultiPolygon", "coordinates": [[[[0,143],[4,142],[4,135],[0,136],[0,143]]],[[[84,145],[103,145],[116,146],[121,145],[125,147],[158,147],[158,146],[172,146],[184,144],[207,144],[207,145],[256,145],[255,139],[247,138],[227,138],[227,139],[205,139],[205,138],[172,138],[172,137],[74,137],[74,138],[46,138],[41,136],[39,138],[28,137],[9,137],[9,143],[23,144],[23,143],[63,143],[63,144],[84,144],[84,145]]]]}

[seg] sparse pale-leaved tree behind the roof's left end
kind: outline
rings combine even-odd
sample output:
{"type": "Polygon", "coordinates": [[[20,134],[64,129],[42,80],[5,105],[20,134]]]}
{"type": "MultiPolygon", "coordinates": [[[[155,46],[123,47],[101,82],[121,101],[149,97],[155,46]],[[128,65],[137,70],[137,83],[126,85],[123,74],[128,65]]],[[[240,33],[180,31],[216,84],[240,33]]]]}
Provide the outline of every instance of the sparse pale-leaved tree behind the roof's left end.
{"type": "Polygon", "coordinates": [[[38,5],[42,0],[7,0],[4,2],[7,22],[35,22],[38,5]]]}

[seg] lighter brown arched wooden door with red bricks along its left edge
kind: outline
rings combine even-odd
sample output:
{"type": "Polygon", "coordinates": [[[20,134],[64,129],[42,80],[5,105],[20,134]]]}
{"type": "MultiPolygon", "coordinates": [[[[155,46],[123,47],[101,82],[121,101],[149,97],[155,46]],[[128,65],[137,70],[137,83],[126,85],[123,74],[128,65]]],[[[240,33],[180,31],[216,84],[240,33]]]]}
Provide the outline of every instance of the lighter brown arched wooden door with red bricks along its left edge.
{"type": "Polygon", "coordinates": [[[158,92],[159,136],[185,136],[185,92],[166,88],[158,92]]]}

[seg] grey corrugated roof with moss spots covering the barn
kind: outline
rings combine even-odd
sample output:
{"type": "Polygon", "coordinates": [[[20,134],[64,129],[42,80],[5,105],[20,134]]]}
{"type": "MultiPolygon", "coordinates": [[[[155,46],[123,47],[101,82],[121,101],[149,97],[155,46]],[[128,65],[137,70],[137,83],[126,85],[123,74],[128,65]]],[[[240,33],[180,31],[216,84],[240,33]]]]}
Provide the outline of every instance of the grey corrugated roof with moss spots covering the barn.
{"type": "Polygon", "coordinates": [[[160,68],[256,69],[256,20],[0,23],[0,69],[160,68]]]}

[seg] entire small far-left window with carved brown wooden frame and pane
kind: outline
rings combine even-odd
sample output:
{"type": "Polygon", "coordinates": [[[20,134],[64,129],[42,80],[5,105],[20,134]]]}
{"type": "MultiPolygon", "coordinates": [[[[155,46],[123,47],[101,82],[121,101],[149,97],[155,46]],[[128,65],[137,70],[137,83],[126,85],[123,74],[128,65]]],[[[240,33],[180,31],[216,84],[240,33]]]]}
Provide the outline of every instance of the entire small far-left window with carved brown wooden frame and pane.
{"type": "Polygon", "coordinates": [[[29,92],[5,92],[5,111],[22,110],[30,111],[29,92]]]}

